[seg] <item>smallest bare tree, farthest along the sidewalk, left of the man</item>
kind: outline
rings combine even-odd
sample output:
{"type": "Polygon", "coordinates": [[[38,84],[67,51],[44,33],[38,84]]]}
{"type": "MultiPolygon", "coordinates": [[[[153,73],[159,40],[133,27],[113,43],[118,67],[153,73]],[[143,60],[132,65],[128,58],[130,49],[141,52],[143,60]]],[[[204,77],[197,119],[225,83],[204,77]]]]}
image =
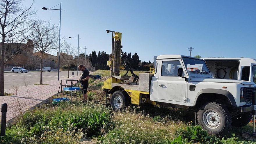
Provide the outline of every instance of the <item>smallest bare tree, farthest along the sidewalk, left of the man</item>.
{"type": "Polygon", "coordinates": [[[65,43],[62,47],[62,53],[60,54],[62,64],[67,65],[67,78],[69,78],[69,68],[71,65],[75,63],[74,61],[74,54],[76,54],[76,51],[73,47],[71,47],[71,44],[65,43]]]}

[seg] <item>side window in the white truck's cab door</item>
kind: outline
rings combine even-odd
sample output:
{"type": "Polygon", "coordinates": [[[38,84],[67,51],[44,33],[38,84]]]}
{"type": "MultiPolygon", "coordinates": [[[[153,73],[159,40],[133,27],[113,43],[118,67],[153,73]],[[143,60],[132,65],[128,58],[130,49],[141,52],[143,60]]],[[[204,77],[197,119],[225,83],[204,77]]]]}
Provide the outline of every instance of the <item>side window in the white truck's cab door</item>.
{"type": "Polygon", "coordinates": [[[178,77],[179,61],[163,61],[161,76],[178,77]]]}

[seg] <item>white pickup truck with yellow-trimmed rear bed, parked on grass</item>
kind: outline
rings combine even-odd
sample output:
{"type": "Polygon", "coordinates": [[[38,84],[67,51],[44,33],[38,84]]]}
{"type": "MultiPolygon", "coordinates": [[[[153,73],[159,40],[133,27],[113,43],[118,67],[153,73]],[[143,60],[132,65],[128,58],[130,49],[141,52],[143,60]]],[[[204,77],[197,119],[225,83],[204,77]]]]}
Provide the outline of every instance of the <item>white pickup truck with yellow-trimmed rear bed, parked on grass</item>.
{"type": "MultiPolygon", "coordinates": [[[[253,67],[250,68],[253,71],[253,67]]],[[[214,79],[204,60],[182,55],[160,55],[154,74],[139,74],[136,83],[127,76],[112,76],[104,82],[113,109],[129,104],[154,105],[198,111],[198,123],[211,134],[222,134],[231,126],[247,125],[256,105],[255,83],[214,79]]]]}

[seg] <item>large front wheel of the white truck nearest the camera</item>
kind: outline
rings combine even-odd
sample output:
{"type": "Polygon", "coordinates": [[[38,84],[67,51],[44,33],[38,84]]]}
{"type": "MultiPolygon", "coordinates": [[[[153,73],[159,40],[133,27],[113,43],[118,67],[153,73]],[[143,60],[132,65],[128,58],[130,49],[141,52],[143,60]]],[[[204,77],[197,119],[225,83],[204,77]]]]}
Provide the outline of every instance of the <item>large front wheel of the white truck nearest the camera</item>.
{"type": "Polygon", "coordinates": [[[204,104],[198,111],[197,119],[200,126],[209,134],[221,135],[232,124],[230,112],[217,102],[204,104]]]}

